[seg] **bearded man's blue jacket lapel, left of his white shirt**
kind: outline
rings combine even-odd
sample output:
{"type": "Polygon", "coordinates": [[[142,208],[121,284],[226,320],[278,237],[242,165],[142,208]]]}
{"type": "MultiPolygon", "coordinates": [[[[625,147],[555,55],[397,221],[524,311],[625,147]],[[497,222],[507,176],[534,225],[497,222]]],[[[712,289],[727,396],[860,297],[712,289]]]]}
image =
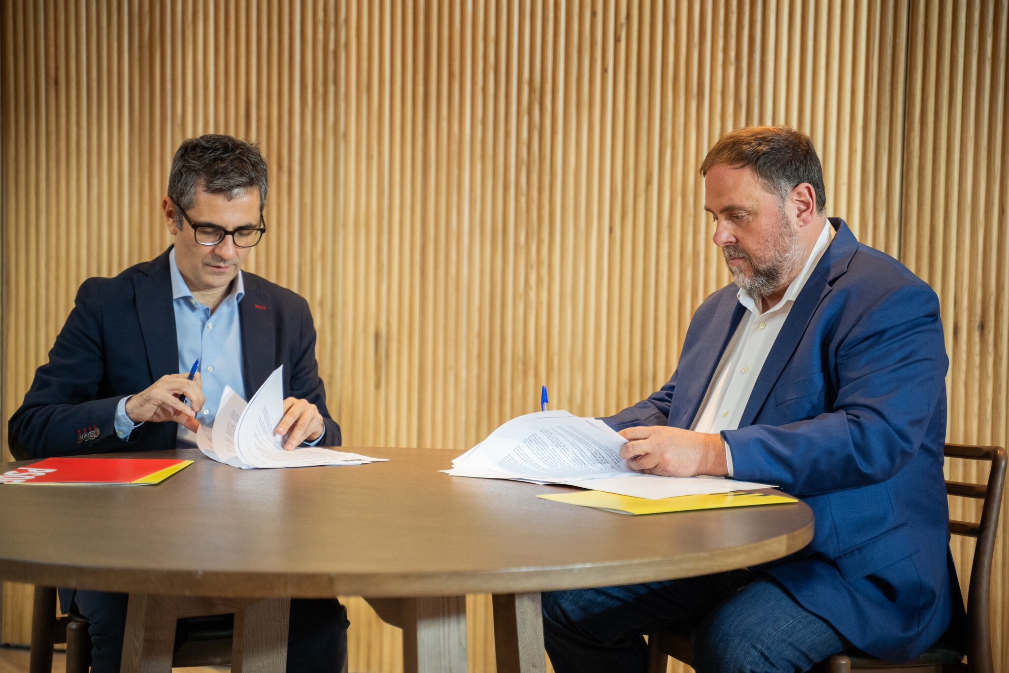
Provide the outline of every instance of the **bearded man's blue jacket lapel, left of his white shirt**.
{"type": "Polygon", "coordinates": [[[685,404],[680,406],[683,415],[679,419],[669,419],[669,425],[688,428],[697,416],[697,410],[704,400],[714,370],[721,360],[721,354],[736,333],[743,319],[746,307],[740,304],[735,293],[725,292],[715,309],[714,317],[704,328],[700,339],[704,343],[717,344],[716,348],[701,348],[697,357],[684,362],[682,359],[676,373],[677,395],[683,394],[685,404]]]}

